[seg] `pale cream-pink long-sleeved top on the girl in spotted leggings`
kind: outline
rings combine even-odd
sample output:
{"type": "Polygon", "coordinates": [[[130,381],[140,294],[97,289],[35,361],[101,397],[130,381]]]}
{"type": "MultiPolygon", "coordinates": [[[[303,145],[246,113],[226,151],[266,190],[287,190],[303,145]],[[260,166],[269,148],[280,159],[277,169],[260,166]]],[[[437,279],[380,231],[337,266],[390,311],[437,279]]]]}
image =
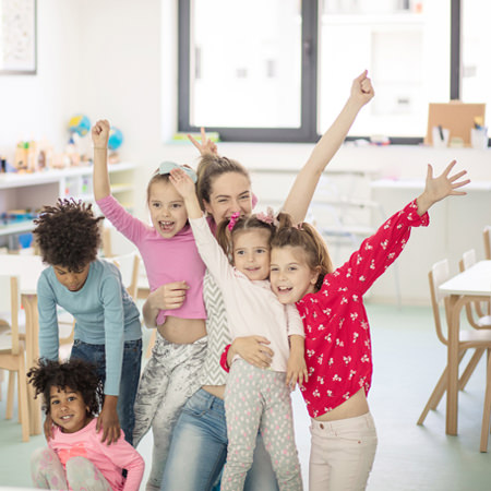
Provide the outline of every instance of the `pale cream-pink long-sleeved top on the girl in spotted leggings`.
{"type": "Polygon", "coordinates": [[[221,290],[232,338],[265,336],[275,352],[272,370],[286,372],[290,354],[288,336],[303,336],[303,326],[295,306],[283,306],[268,280],[251,282],[228,262],[204,217],[190,219],[197,249],[208,272],[221,290]]]}

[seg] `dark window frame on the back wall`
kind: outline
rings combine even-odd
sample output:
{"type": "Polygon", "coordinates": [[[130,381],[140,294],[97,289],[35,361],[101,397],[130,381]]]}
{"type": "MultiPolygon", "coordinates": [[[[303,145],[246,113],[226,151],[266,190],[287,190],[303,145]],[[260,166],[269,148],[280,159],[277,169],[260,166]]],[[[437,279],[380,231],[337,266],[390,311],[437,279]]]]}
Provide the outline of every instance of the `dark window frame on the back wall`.
{"type": "MultiPolygon", "coordinates": [[[[178,131],[199,132],[190,124],[191,96],[191,8],[193,0],[178,0],[178,131]]],[[[318,133],[318,41],[319,0],[302,0],[301,123],[300,128],[209,127],[224,142],[314,143],[318,133]]],[[[459,99],[462,87],[462,0],[451,0],[451,73],[450,98],[459,99]]],[[[368,139],[368,135],[346,140],[368,139]]],[[[390,136],[392,144],[417,145],[423,137],[390,136]]]]}

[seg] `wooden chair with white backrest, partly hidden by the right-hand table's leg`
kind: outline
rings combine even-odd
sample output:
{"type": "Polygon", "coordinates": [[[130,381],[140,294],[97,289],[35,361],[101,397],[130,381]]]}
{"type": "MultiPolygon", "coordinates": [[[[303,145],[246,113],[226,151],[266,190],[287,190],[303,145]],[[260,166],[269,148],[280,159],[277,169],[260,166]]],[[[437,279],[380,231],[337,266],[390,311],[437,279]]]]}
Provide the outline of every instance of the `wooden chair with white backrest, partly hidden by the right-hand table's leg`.
{"type": "MultiPolygon", "coordinates": [[[[431,268],[429,273],[429,282],[430,282],[430,296],[431,296],[431,307],[433,309],[433,319],[434,325],[436,330],[436,336],[443,345],[447,345],[447,337],[443,332],[442,320],[440,315],[441,303],[444,303],[444,311],[447,315],[447,296],[441,294],[439,290],[440,285],[450,279],[450,270],[448,270],[448,261],[443,260],[435,264],[431,268]]],[[[446,316],[446,319],[448,319],[446,316]]],[[[458,388],[462,391],[466,386],[467,381],[472,374],[479,359],[482,357],[483,352],[488,351],[488,378],[487,378],[487,391],[484,397],[484,412],[483,412],[483,423],[481,428],[481,452],[487,452],[488,446],[488,432],[489,432],[489,422],[490,422],[490,409],[491,409],[491,330],[460,330],[459,331],[459,340],[458,340],[458,363],[460,363],[465,354],[468,349],[475,349],[475,352],[469,360],[464,373],[462,374],[458,381],[458,388]],[[489,400],[489,403],[488,403],[489,400]],[[488,406],[487,406],[488,405],[488,406]],[[487,423],[484,424],[484,418],[487,417],[487,423]],[[486,445],[486,448],[483,450],[486,445]]],[[[442,375],[440,376],[433,392],[431,393],[430,398],[428,399],[424,409],[421,412],[421,416],[418,419],[418,424],[422,424],[424,419],[427,418],[430,409],[436,409],[440,400],[442,399],[443,394],[446,391],[446,382],[447,382],[447,370],[445,367],[442,375]]]]}

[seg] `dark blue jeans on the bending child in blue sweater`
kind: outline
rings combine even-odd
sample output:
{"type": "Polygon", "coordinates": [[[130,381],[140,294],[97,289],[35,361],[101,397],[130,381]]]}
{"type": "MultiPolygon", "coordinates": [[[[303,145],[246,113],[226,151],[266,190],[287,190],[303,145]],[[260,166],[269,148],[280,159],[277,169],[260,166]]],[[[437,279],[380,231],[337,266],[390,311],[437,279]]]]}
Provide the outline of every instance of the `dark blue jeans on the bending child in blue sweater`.
{"type": "MultiPolygon", "coordinates": [[[[76,358],[94,363],[97,367],[97,375],[106,382],[106,346],[89,345],[80,339],[73,342],[70,358],[76,358]]],[[[142,363],[142,339],[124,343],[123,363],[121,368],[121,382],[118,396],[118,418],[124,439],[133,443],[134,428],[134,399],[139,387],[140,368],[142,363]]]]}

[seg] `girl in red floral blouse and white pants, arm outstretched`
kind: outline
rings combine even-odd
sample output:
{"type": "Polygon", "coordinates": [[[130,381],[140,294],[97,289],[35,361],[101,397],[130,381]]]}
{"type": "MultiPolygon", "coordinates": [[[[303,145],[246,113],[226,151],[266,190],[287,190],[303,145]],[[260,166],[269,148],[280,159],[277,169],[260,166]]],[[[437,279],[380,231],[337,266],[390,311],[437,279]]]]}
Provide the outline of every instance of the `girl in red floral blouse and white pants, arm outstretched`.
{"type": "Polygon", "coordinates": [[[376,432],[367,403],[372,351],[362,296],[400,254],[411,227],[428,226],[434,203],[466,194],[458,191],[469,182],[460,179],[466,171],[451,176],[454,165],[438,178],[428,166],[423,193],[335,271],[325,242],[308,224],[280,226],[272,241],[272,288],[282,303],[297,303],[306,331],[309,380],[301,390],[312,418],[311,490],[367,486],[376,432]]]}

